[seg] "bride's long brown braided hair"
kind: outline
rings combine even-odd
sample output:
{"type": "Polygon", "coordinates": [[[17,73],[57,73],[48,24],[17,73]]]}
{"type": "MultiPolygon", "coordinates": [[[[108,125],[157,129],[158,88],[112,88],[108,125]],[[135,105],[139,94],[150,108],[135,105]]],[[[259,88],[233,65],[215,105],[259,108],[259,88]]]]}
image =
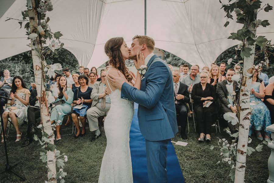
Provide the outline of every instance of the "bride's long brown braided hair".
{"type": "Polygon", "coordinates": [[[123,45],[124,38],[116,37],[109,39],[105,44],[105,53],[109,57],[109,64],[114,66],[114,68],[118,69],[123,73],[128,80],[131,82],[132,77],[129,73],[128,68],[125,65],[125,62],[122,57],[122,52],[120,50],[123,45]]]}

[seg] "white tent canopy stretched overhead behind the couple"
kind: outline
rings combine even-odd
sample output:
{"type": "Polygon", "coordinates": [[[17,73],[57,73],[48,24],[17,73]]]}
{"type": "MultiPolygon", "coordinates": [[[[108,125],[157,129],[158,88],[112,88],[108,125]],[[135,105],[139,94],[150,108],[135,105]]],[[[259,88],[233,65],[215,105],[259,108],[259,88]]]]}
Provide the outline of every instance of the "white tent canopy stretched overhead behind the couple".
{"type": "MultiPolygon", "coordinates": [[[[222,0],[227,3],[227,0],[222,0]]],[[[274,5],[271,0],[261,0],[274,5]]],[[[147,35],[155,47],[173,53],[190,64],[210,63],[238,41],[227,39],[241,24],[230,19],[218,0],[147,0],[147,35]]],[[[144,0],[52,0],[52,32],[61,31],[64,48],[72,52],[80,65],[91,68],[107,61],[104,44],[112,37],[123,37],[131,45],[132,37],[144,35],[144,0]]],[[[0,60],[30,50],[25,29],[19,29],[21,11],[26,0],[1,0],[0,60]]],[[[234,15],[234,18],[236,15],[234,15]]],[[[268,27],[259,27],[257,35],[274,40],[274,11],[260,11],[258,19],[269,20],[268,27]]],[[[24,23],[23,23],[24,26],[24,23]]],[[[23,27],[22,26],[22,27],[23,27]]],[[[129,46],[130,47],[130,46],[129,46]]]]}

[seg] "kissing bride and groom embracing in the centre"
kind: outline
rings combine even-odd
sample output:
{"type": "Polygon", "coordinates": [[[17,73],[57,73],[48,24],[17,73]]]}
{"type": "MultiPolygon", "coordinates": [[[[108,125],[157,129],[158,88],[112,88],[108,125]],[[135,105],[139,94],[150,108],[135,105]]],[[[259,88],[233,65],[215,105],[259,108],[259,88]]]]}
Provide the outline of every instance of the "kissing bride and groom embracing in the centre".
{"type": "Polygon", "coordinates": [[[98,183],[133,183],[129,131],[134,102],[139,104],[139,127],[146,139],[149,183],[167,182],[167,145],[178,127],[172,73],[153,54],[154,45],[152,38],[139,35],[132,38],[130,48],[121,37],[111,38],[105,44],[111,107],[104,122],[107,147],[98,183]],[[127,69],[126,59],[134,60],[136,75],[127,69]]]}

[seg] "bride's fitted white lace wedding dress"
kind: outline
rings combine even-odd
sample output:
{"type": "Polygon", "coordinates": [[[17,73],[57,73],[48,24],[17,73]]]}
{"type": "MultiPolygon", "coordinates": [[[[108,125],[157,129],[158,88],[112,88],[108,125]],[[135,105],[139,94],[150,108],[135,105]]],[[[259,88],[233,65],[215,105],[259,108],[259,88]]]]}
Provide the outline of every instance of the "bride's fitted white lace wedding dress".
{"type": "MultiPolygon", "coordinates": [[[[111,88],[110,88],[111,90],[111,88]]],[[[133,183],[129,131],[134,102],[121,99],[121,90],[111,90],[111,107],[104,122],[107,147],[98,183],[133,183]]]]}

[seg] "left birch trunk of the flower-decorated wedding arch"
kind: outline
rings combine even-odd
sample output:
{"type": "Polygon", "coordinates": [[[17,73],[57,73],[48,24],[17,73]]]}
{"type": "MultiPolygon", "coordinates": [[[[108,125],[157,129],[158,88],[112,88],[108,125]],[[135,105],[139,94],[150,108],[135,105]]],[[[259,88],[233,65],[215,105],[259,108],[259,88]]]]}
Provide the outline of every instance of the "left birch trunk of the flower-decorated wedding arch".
{"type": "MultiPolygon", "coordinates": [[[[30,31],[31,33],[36,33],[38,27],[37,20],[37,11],[35,9],[35,0],[31,0],[32,9],[29,9],[29,18],[30,18],[30,31]]],[[[33,59],[33,70],[35,76],[35,84],[37,89],[37,95],[40,97],[40,115],[41,122],[43,124],[44,132],[46,132],[50,139],[50,144],[54,144],[54,133],[51,128],[51,120],[48,110],[48,102],[47,102],[47,94],[44,86],[44,74],[41,65],[40,54],[35,51],[39,50],[37,45],[37,39],[31,40],[31,53],[33,59]]],[[[48,176],[52,174],[52,178],[50,178],[51,182],[57,182],[55,179],[56,175],[56,162],[55,162],[55,152],[47,151],[47,167],[50,171],[48,171],[48,176]]]]}

